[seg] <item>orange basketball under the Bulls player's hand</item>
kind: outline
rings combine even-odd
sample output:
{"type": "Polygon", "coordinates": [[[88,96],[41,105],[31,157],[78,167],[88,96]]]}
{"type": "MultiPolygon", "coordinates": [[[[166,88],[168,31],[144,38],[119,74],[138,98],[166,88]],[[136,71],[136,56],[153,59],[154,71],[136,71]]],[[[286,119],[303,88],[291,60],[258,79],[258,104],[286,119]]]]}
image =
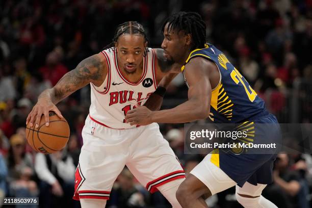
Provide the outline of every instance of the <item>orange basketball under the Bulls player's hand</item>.
{"type": "Polygon", "coordinates": [[[26,138],[34,150],[41,153],[53,153],[63,149],[70,135],[69,125],[64,118],[55,112],[49,112],[49,126],[45,125],[44,115],[41,116],[38,128],[26,126],[26,138]]]}

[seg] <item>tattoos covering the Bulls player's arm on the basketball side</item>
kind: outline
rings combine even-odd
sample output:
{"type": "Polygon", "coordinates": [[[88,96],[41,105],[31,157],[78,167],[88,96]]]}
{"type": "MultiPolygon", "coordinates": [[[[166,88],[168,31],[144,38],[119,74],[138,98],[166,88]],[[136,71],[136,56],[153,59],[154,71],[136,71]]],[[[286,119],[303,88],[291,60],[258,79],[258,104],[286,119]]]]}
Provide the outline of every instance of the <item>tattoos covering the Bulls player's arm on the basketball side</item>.
{"type": "Polygon", "coordinates": [[[56,98],[64,98],[90,82],[100,81],[104,73],[103,61],[96,55],[81,61],[77,67],[66,73],[56,84],[56,98]]]}

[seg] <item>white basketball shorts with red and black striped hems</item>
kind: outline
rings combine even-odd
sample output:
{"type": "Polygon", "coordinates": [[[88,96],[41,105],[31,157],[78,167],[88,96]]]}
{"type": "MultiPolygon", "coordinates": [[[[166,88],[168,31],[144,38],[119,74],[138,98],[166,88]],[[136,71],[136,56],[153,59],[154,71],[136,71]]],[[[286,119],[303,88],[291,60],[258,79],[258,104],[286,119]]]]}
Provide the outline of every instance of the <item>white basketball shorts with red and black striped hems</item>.
{"type": "Polygon", "coordinates": [[[88,118],[82,131],[83,146],[75,172],[73,199],[109,199],[119,173],[126,165],[151,193],[185,172],[157,123],[130,129],[113,129],[88,118]]]}

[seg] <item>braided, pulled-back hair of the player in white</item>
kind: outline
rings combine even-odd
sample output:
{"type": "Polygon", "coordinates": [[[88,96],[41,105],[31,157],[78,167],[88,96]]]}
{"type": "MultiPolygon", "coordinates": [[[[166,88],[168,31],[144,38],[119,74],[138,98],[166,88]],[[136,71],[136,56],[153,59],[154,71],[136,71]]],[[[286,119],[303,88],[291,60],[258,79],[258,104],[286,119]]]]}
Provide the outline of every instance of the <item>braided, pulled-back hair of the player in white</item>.
{"type": "MultiPolygon", "coordinates": [[[[140,24],[137,21],[127,21],[124,22],[122,24],[119,24],[116,31],[115,31],[115,35],[114,38],[112,39],[112,42],[110,44],[108,44],[107,46],[105,46],[103,48],[103,50],[105,49],[111,49],[113,47],[115,47],[115,43],[117,42],[119,36],[123,35],[123,34],[140,34],[144,37],[145,41],[148,43],[148,39],[145,33],[145,30],[142,26],[142,24],[140,24]]],[[[148,47],[145,47],[144,50],[144,57],[146,56],[146,53],[148,52],[148,47]]]]}

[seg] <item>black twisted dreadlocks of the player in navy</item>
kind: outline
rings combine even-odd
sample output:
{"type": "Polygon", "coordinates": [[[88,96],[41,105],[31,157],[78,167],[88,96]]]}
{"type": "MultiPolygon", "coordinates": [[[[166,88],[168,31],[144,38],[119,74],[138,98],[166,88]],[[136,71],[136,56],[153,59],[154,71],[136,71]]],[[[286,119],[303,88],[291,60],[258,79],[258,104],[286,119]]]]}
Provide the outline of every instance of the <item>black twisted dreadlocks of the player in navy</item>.
{"type": "Polygon", "coordinates": [[[196,12],[178,12],[168,17],[162,28],[164,33],[165,26],[168,23],[168,31],[174,30],[176,32],[184,31],[185,34],[191,34],[192,47],[204,48],[206,44],[206,24],[201,16],[196,12]]]}

